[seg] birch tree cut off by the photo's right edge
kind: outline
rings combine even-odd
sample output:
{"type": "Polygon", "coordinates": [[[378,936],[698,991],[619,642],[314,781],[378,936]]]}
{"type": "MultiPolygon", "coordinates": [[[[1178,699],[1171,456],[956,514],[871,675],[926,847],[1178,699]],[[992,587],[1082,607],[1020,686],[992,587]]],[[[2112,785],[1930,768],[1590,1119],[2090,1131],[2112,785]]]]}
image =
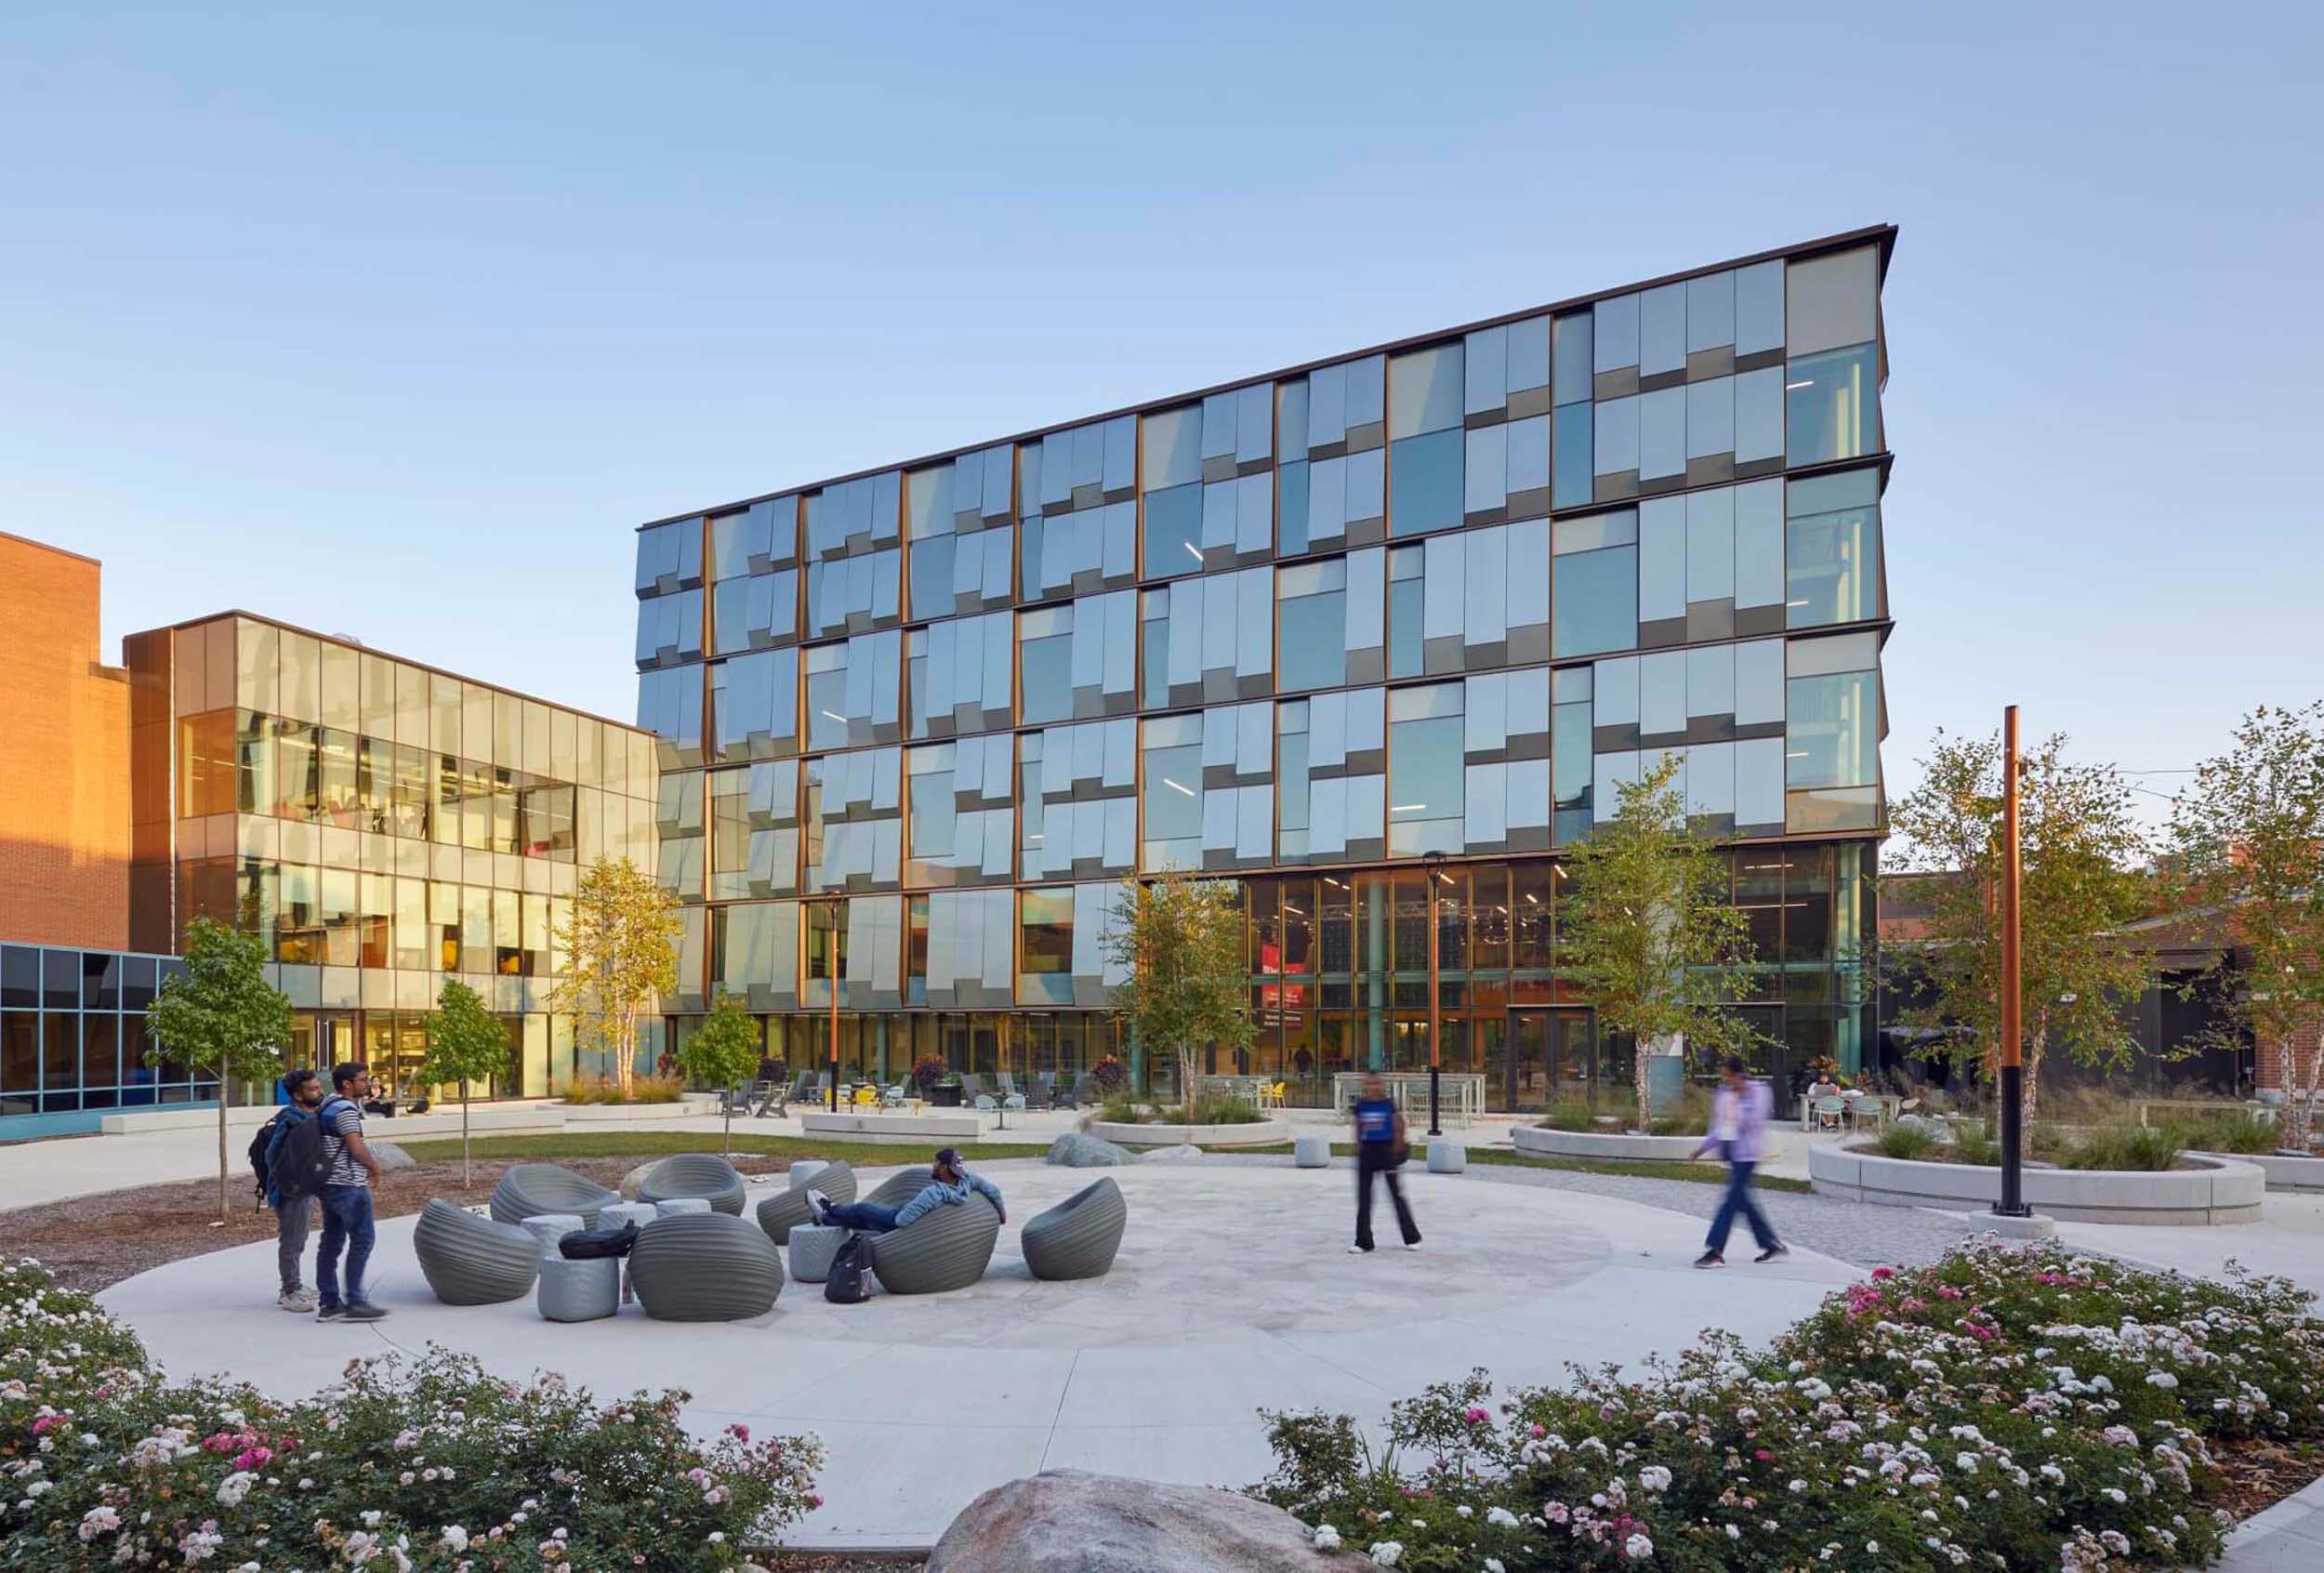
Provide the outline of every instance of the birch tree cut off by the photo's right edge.
{"type": "Polygon", "coordinates": [[[2261,704],[2171,809],[2173,895],[2243,967],[2217,1036],[2250,1034],[2284,1092],[2284,1145],[2308,1150],[2324,1071],[2324,704],[2261,704]]]}

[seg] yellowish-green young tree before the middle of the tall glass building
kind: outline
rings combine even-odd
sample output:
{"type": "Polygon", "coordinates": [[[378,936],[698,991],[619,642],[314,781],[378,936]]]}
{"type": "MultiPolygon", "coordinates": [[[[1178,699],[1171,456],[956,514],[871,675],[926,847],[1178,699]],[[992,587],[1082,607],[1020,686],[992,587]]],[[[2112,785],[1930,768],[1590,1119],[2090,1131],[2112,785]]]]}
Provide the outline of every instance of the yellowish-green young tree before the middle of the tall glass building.
{"type": "Polygon", "coordinates": [[[1204,1043],[1250,1048],[1250,964],[1232,881],[1157,874],[1125,878],[1113,902],[1106,960],[1129,974],[1113,1011],[1155,1053],[1178,1060],[1178,1101],[1195,1104],[1195,1053],[1204,1043]]]}

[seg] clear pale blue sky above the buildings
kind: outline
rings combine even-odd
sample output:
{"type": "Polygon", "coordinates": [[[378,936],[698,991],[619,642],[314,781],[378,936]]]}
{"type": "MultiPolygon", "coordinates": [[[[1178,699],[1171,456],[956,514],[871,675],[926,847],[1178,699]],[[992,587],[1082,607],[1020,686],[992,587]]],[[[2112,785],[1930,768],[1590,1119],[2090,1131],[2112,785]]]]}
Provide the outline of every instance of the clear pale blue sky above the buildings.
{"type": "Polygon", "coordinates": [[[1892,790],[2324,692],[2312,7],[356,9],[0,14],[0,530],[107,639],[625,716],[646,518],[1894,221],[1892,790]]]}

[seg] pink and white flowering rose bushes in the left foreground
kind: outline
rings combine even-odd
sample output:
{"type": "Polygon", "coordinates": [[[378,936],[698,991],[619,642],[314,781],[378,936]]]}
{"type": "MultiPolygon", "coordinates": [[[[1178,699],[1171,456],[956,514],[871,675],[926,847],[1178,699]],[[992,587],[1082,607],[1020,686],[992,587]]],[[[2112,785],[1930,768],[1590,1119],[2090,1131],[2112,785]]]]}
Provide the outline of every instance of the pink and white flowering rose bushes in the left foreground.
{"type": "Polygon", "coordinates": [[[818,1506],[811,1438],[695,1441],[683,1392],[595,1403],[474,1359],[353,1362],[297,1403],[165,1382],[37,1264],[0,1266],[5,1566],[734,1568],[818,1506]]]}

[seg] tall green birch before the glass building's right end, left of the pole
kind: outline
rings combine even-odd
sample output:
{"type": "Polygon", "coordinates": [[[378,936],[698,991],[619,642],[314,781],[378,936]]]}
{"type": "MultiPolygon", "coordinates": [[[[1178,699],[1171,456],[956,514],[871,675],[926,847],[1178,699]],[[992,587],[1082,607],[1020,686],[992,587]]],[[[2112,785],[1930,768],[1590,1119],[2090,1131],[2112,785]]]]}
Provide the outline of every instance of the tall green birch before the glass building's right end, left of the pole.
{"type": "Polygon", "coordinates": [[[1678,760],[1664,757],[1618,788],[1615,813],[1566,855],[1557,897],[1559,974],[1597,1006],[1599,1032],[1636,1043],[1638,1129],[1652,1120],[1657,1043],[1734,1055],[1757,1036],[1729,1008],[1757,987],[1734,869],[1724,846],[1687,827],[1676,776],[1678,760]]]}

